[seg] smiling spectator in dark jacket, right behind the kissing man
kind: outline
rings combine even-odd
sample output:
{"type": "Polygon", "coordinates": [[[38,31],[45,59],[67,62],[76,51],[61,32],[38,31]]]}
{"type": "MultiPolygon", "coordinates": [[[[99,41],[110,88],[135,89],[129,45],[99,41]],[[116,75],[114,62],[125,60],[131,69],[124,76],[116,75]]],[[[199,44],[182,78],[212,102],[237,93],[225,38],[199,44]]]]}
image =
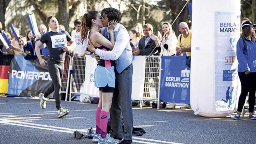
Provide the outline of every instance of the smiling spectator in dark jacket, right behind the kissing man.
{"type": "Polygon", "coordinates": [[[156,35],[153,34],[153,27],[151,24],[145,24],[143,26],[144,37],[142,37],[139,41],[139,46],[137,48],[132,48],[133,55],[142,55],[149,56],[155,55],[158,56],[160,54],[160,41],[156,38],[156,35]],[[156,45],[158,47],[156,47],[156,45]]]}

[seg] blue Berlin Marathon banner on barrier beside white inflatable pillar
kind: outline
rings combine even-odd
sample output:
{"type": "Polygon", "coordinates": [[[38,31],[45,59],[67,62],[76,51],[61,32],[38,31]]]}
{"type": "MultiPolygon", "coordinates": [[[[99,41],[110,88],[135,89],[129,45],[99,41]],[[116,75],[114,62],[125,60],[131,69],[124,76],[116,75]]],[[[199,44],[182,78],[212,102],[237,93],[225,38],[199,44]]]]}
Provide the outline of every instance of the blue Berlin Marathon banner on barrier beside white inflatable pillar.
{"type": "Polygon", "coordinates": [[[161,56],[160,99],[190,104],[190,68],[186,56],[161,56]]]}

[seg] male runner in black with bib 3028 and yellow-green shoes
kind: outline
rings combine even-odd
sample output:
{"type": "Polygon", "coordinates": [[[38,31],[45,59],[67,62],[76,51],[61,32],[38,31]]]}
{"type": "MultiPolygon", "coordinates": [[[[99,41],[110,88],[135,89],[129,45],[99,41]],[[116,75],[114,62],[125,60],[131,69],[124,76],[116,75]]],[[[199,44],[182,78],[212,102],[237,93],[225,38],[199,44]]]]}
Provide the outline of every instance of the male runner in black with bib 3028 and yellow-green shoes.
{"type": "Polygon", "coordinates": [[[51,31],[42,35],[38,44],[35,46],[35,52],[38,57],[41,66],[48,65],[48,71],[50,73],[52,84],[44,94],[39,94],[40,106],[42,109],[46,108],[46,97],[54,91],[56,108],[58,109],[58,118],[61,118],[69,113],[67,109],[61,107],[61,78],[63,76],[65,52],[74,49],[76,46],[71,36],[67,31],[59,31],[58,20],[54,16],[49,16],[46,19],[51,31]],[[67,41],[70,42],[70,46],[67,46],[67,41]],[[40,47],[46,43],[50,52],[50,58],[48,62],[42,59],[40,55],[40,47]]]}

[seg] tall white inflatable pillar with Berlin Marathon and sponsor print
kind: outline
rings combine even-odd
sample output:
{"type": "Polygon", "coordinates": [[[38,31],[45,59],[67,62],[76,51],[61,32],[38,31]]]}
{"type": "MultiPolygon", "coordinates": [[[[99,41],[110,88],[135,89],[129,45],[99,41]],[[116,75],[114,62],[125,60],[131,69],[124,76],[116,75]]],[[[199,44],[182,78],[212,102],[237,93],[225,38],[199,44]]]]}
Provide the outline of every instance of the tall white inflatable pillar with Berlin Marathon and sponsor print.
{"type": "Polygon", "coordinates": [[[240,0],[193,0],[190,103],[195,114],[223,117],[237,109],[236,44],[240,0]]]}

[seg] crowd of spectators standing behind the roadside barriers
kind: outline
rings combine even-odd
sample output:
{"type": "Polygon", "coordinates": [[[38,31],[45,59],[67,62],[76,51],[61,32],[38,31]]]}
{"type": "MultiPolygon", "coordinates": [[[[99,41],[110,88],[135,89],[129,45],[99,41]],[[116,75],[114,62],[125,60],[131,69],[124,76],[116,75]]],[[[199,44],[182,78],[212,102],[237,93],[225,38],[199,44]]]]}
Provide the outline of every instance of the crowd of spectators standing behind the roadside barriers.
{"type": "MultiPolygon", "coordinates": [[[[241,20],[241,25],[249,21],[248,18],[243,18],[241,20]]],[[[76,19],[74,21],[74,30],[71,31],[71,37],[74,40],[76,47],[73,51],[67,52],[67,54],[74,57],[83,57],[85,55],[90,55],[92,52],[88,51],[88,35],[87,39],[81,42],[81,32],[80,32],[81,20],[76,19]]],[[[162,23],[162,29],[157,31],[156,34],[153,33],[152,24],[142,25],[137,23],[134,28],[129,30],[130,35],[130,45],[132,48],[132,54],[134,56],[186,56],[186,65],[190,67],[191,60],[191,35],[192,35],[192,25],[191,21],[180,22],[178,30],[179,35],[175,34],[172,26],[169,22],[162,23]]],[[[59,25],[59,30],[65,30],[63,25],[59,25]]],[[[0,22],[0,31],[2,31],[2,24],[0,22]]],[[[47,27],[44,24],[38,26],[38,31],[40,33],[33,35],[31,30],[26,32],[26,35],[19,35],[19,30],[14,28],[11,34],[5,32],[8,40],[11,42],[9,48],[6,48],[0,40],[0,55],[22,55],[25,59],[36,59],[35,46],[38,41],[47,33],[47,27]],[[15,37],[15,33],[18,39],[15,37]]],[[[242,31],[242,30],[241,30],[242,31]]],[[[255,35],[255,33],[254,33],[255,35]]],[[[67,46],[70,43],[67,42],[67,46]]],[[[46,45],[40,47],[41,55],[49,55],[49,51],[46,45]]],[[[175,108],[174,103],[168,103],[168,108],[175,108]]],[[[181,109],[191,108],[190,105],[185,105],[181,109]]]]}

